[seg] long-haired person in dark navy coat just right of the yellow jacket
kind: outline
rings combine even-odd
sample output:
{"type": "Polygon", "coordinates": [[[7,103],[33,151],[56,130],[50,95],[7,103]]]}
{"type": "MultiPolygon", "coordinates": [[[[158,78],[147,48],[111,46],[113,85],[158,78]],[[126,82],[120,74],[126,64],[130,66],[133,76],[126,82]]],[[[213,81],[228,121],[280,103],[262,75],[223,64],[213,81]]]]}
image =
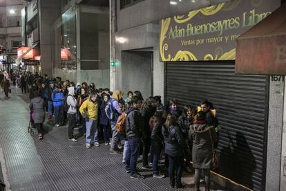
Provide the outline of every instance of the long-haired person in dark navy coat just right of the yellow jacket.
{"type": "MultiPolygon", "coordinates": [[[[97,95],[98,96],[98,95],[97,95]]],[[[104,131],[105,145],[109,145],[109,139],[111,138],[111,122],[107,118],[105,113],[105,107],[108,104],[109,96],[106,93],[102,93],[102,103],[100,104],[100,120],[99,125],[102,126],[104,131]]]]}

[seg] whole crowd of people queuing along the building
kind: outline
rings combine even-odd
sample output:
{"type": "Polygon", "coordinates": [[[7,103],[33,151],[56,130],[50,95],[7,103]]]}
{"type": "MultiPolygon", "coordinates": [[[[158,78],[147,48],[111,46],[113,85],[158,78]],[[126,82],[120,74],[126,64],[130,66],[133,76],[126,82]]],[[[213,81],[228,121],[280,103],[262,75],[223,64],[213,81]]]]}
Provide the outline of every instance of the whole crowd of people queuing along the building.
{"type": "Polygon", "coordinates": [[[143,169],[153,169],[154,178],[164,178],[159,168],[164,158],[171,188],[182,188],[183,170],[194,169],[196,190],[202,176],[205,189],[210,190],[212,152],[220,130],[211,102],[204,100],[198,108],[186,105],[181,111],[178,100],[169,100],[164,106],[161,96],[144,100],[140,91],[128,91],[124,99],[120,90],[111,92],[97,89],[94,83],[63,82],[59,77],[29,72],[20,73],[15,84],[22,93],[29,93],[31,120],[39,140],[44,137],[47,116],[55,120],[55,127],[68,123],[70,141],[77,141],[74,129],[82,127],[86,148],[99,147],[101,139],[110,145],[110,154],[123,152],[122,163],[133,179],[144,179],[137,169],[140,155],[143,169]]]}

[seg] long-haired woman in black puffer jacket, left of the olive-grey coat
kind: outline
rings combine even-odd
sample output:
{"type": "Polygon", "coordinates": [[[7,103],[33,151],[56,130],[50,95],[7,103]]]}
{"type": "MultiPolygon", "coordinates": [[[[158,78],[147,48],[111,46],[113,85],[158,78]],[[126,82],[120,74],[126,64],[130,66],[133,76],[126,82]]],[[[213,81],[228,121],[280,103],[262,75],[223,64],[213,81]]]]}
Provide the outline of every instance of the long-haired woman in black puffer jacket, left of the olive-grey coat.
{"type": "Polygon", "coordinates": [[[165,153],[169,158],[169,177],[171,188],[182,188],[182,170],[184,167],[184,147],[186,143],[182,130],[177,125],[175,114],[169,114],[162,128],[165,140],[165,153]],[[177,173],[175,176],[175,168],[177,173]]]}

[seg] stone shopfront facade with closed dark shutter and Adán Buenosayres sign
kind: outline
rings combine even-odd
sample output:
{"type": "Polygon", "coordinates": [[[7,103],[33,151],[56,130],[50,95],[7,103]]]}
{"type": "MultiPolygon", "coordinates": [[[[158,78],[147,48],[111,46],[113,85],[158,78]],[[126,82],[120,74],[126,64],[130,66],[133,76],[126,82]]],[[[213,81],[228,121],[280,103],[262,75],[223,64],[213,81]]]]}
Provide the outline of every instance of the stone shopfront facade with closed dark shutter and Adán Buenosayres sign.
{"type": "Polygon", "coordinates": [[[175,98],[180,107],[210,100],[222,126],[216,173],[241,188],[280,190],[284,76],[235,72],[236,38],[280,5],[280,0],[111,1],[111,89],[140,90],[145,99],[160,95],[166,104],[175,98]],[[223,22],[219,31],[214,25],[223,22]]]}

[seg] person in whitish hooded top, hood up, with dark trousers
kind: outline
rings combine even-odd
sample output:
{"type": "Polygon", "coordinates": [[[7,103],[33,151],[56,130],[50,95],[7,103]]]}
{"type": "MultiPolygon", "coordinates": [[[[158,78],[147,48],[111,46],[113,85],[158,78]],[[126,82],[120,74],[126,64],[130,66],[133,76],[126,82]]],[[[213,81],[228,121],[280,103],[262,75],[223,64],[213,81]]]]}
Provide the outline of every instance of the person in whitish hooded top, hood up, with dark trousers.
{"type": "Polygon", "coordinates": [[[68,88],[68,97],[66,98],[66,104],[68,104],[68,140],[77,141],[75,135],[73,134],[73,129],[75,128],[75,115],[77,113],[77,100],[75,99],[75,88],[68,88]]]}

